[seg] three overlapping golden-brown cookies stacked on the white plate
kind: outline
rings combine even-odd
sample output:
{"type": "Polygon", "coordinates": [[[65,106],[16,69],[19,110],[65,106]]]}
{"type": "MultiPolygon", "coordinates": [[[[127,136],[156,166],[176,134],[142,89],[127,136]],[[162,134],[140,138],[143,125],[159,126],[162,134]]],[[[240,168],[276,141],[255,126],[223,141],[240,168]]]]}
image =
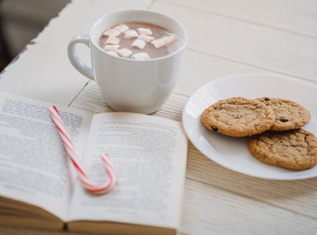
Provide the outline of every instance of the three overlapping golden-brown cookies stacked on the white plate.
{"type": "Polygon", "coordinates": [[[220,100],[201,115],[211,131],[250,136],[249,151],[258,160],[296,171],[317,164],[317,138],[299,128],[309,121],[309,111],[300,104],[270,97],[220,100]]]}

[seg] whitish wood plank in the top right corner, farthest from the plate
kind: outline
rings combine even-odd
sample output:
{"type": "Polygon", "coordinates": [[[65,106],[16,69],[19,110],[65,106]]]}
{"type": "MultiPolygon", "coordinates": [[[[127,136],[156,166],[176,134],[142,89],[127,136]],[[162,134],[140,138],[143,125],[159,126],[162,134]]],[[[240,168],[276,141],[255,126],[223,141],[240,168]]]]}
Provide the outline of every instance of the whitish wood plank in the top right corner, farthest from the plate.
{"type": "Polygon", "coordinates": [[[222,17],[317,37],[317,2],[314,0],[162,0],[186,5],[222,17]]]}

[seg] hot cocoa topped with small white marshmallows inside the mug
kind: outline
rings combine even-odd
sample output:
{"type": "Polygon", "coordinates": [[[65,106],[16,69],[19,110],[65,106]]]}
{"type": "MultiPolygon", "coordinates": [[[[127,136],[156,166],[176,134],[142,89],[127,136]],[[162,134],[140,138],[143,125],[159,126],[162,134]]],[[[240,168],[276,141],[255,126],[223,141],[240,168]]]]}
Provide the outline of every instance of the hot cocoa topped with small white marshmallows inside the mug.
{"type": "Polygon", "coordinates": [[[149,60],[171,54],[178,49],[175,34],[159,25],[125,22],[103,31],[98,45],[113,56],[149,60]]]}

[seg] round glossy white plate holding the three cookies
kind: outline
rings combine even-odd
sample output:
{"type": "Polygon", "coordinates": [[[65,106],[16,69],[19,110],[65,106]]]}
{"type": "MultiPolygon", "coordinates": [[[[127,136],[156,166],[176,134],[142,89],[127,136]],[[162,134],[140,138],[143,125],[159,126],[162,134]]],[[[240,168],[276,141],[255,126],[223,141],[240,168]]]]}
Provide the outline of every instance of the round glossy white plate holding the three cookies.
{"type": "Polygon", "coordinates": [[[248,150],[247,137],[230,137],[204,127],[200,115],[211,104],[233,96],[249,99],[277,97],[295,101],[311,113],[310,122],[302,127],[317,135],[317,88],[306,82],[279,75],[246,74],[217,79],[199,88],[183,110],[183,125],[193,145],[218,164],[246,175],[271,180],[299,180],[317,176],[317,166],[292,171],[260,162],[248,150]]]}

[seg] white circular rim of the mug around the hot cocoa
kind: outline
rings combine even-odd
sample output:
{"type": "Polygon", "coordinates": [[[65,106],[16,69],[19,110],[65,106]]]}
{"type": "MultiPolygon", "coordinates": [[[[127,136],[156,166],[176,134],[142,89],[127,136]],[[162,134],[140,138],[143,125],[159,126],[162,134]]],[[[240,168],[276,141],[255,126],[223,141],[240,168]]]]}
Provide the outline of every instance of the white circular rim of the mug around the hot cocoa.
{"type": "Polygon", "coordinates": [[[113,12],[111,12],[111,13],[108,13],[107,15],[103,15],[103,16],[99,17],[97,20],[95,20],[95,21],[90,25],[90,27],[89,27],[89,32],[88,32],[88,36],[89,36],[89,41],[95,46],[95,48],[97,48],[99,51],[103,52],[105,55],[110,56],[111,58],[114,58],[114,59],[120,59],[120,60],[126,60],[126,61],[133,61],[133,62],[138,62],[138,63],[139,63],[139,62],[145,62],[145,63],[146,63],[146,62],[164,60],[164,59],[167,59],[167,58],[169,58],[169,57],[172,57],[173,55],[178,54],[179,52],[181,52],[181,51],[185,48],[185,46],[186,46],[186,44],[187,44],[187,40],[188,40],[187,31],[186,31],[186,29],[184,28],[184,26],[183,26],[181,23],[179,23],[177,20],[173,19],[173,18],[170,17],[170,16],[167,16],[167,15],[165,15],[165,14],[162,14],[162,13],[159,13],[159,12],[156,12],[156,11],[151,11],[151,10],[119,10],[119,11],[113,11],[113,12]],[[159,14],[159,15],[161,15],[161,16],[164,16],[164,17],[169,18],[170,20],[176,22],[176,23],[181,27],[181,29],[184,31],[185,37],[184,37],[184,43],[183,43],[183,45],[182,45],[180,48],[178,48],[176,51],[172,52],[171,54],[164,55],[164,56],[162,56],[162,57],[153,58],[153,59],[149,59],[149,60],[133,60],[133,59],[124,58],[124,57],[121,57],[121,56],[112,56],[112,55],[109,55],[109,54],[107,54],[107,52],[106,52],[105,50],[102,50],[102,49],[100,48],[100,46],[98,46],[97,43],[94,42],[94,41],[91,39],[91,36],[90,36],[91,30],[92,30],[92,28],[94,28],[95,24],[96,24],[101,18],[103,18],[103,17],[105,17],[105,16],[108,16],[108,15],[111,15],[111,14],[117,14],[117,13],[119,13],[119,12],[133,12],[133,11],[153,12],[153,13],[155,13],[155,14],[159,14]]]}

